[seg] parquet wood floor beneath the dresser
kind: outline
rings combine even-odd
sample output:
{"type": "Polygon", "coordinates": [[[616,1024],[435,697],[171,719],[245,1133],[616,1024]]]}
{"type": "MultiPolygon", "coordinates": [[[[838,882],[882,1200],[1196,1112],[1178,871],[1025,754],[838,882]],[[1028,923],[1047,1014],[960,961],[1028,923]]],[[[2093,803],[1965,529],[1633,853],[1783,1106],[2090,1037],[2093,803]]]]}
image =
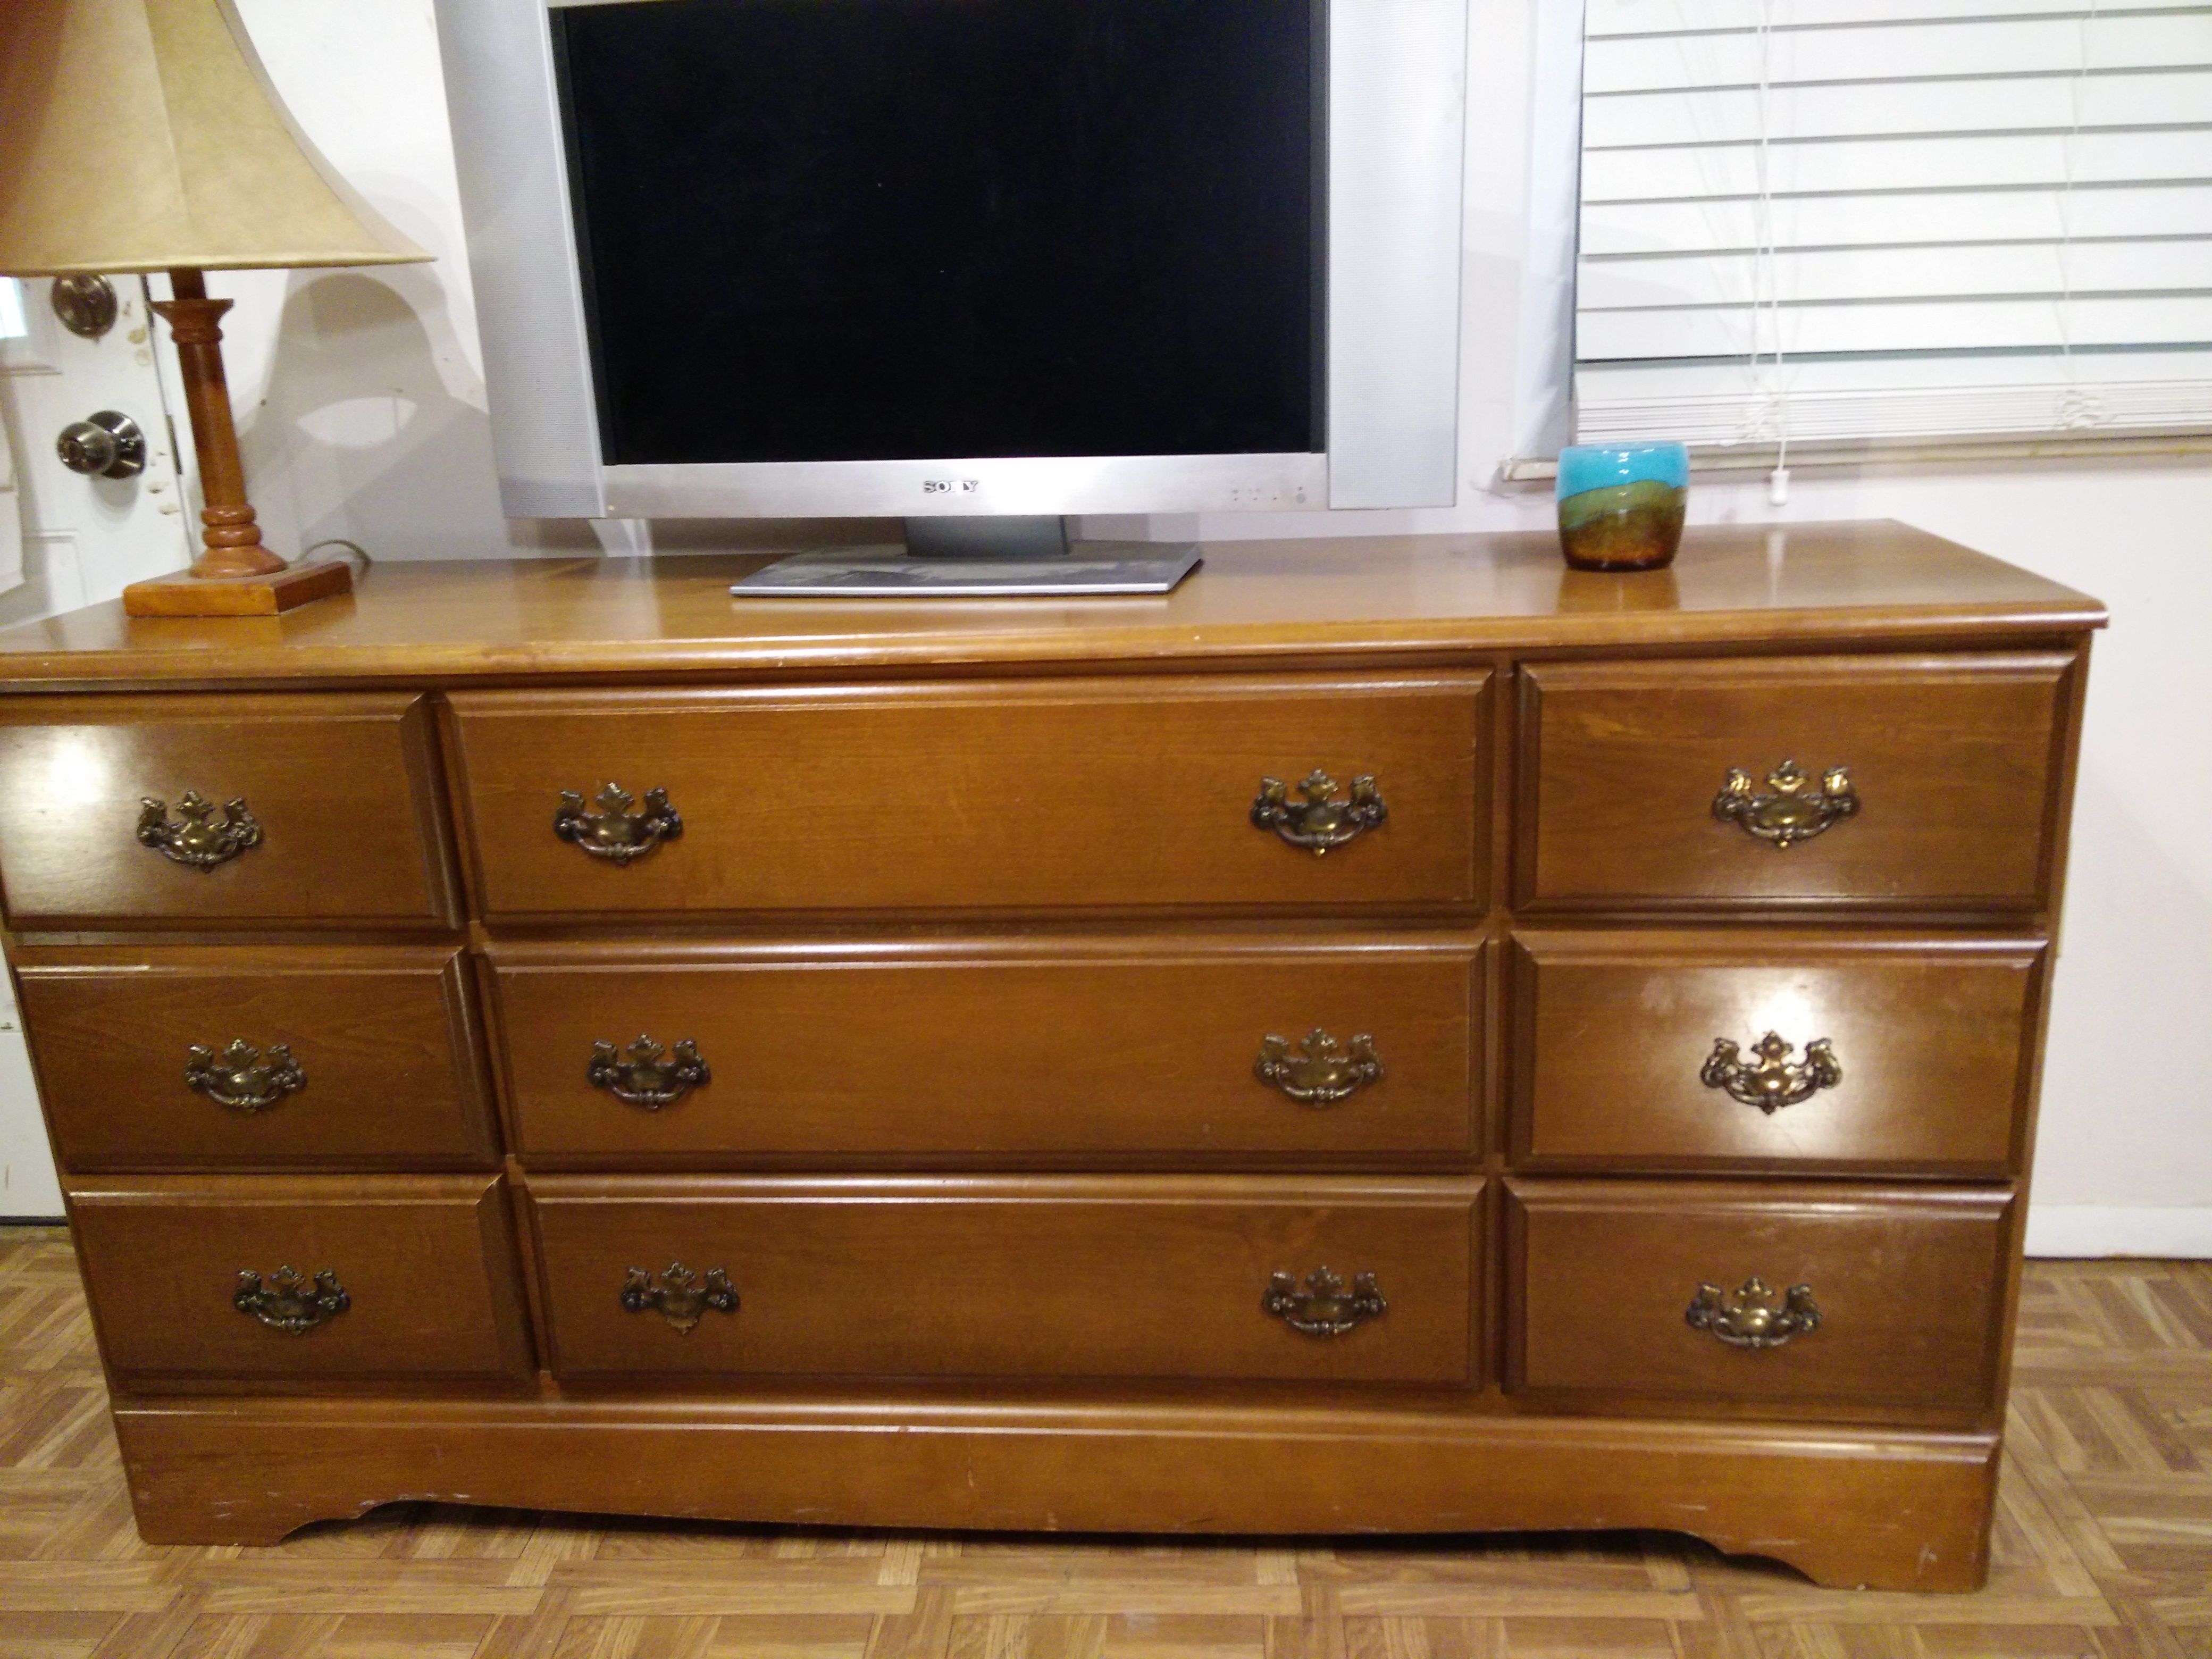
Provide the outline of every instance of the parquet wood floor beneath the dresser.
{"type": "Polygon", "coordinates": [[[0,1659],[2212,1659],[2212,1263],[2031,1263],[1993,1557],[1982,1595],[1916,1597],[1644,1533],[1042,1542],[420,1504],[150,1548],[69,1237],[0,1228],[0,1659]]]}

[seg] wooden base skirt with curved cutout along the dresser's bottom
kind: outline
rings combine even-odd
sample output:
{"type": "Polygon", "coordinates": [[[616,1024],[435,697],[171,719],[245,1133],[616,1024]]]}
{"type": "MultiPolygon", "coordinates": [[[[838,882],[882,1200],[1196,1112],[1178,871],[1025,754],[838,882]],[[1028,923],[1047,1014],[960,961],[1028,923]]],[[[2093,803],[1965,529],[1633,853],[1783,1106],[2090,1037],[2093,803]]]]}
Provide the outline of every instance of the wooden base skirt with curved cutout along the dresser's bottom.
{"type": "Polygon", "coordinates": [[[150,1544],[389,1502],[1057,1533],[1657,1528],[1816,1584],[1973,1590],[1993,1433],[1318,1407],[137,1400],[150,1544]]]}

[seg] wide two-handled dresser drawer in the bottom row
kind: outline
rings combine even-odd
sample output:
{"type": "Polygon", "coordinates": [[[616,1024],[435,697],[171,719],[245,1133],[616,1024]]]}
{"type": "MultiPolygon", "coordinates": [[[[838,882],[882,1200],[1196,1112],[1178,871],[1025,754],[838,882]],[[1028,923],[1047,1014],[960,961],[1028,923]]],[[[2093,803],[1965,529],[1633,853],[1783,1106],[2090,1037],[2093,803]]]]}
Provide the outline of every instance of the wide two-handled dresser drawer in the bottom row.
{"type": "Polygon", "coordinates": [[[1478,1208],[1478,1181],[531,1181],[564,1378],[1473,1383],[1478,1208]]]}

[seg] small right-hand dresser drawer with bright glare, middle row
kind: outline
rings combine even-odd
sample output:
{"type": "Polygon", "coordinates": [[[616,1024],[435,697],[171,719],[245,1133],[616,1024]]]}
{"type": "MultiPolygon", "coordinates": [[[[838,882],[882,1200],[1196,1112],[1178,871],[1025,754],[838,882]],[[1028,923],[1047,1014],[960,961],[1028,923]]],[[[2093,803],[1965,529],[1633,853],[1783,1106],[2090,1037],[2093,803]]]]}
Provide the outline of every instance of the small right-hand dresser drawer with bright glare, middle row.
{"type": "Polygon", "coordinates": [[[2042,987],[2033,938],[1520,933],[1513,1159],[2004,1175],[2042,987]]]}

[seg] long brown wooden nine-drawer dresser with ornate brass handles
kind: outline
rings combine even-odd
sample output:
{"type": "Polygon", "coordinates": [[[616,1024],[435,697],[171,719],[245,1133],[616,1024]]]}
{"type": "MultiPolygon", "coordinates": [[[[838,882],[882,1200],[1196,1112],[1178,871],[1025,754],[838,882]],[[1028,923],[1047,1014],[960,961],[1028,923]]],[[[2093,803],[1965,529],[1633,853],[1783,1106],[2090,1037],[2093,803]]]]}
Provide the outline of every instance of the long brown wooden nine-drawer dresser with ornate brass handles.
{"type": "Polygon", "coordinates": [[[1982,1579],[2095,602],[1896,524],[0,633],[139,1528],[1666,1526],[1982,1579]]]}

